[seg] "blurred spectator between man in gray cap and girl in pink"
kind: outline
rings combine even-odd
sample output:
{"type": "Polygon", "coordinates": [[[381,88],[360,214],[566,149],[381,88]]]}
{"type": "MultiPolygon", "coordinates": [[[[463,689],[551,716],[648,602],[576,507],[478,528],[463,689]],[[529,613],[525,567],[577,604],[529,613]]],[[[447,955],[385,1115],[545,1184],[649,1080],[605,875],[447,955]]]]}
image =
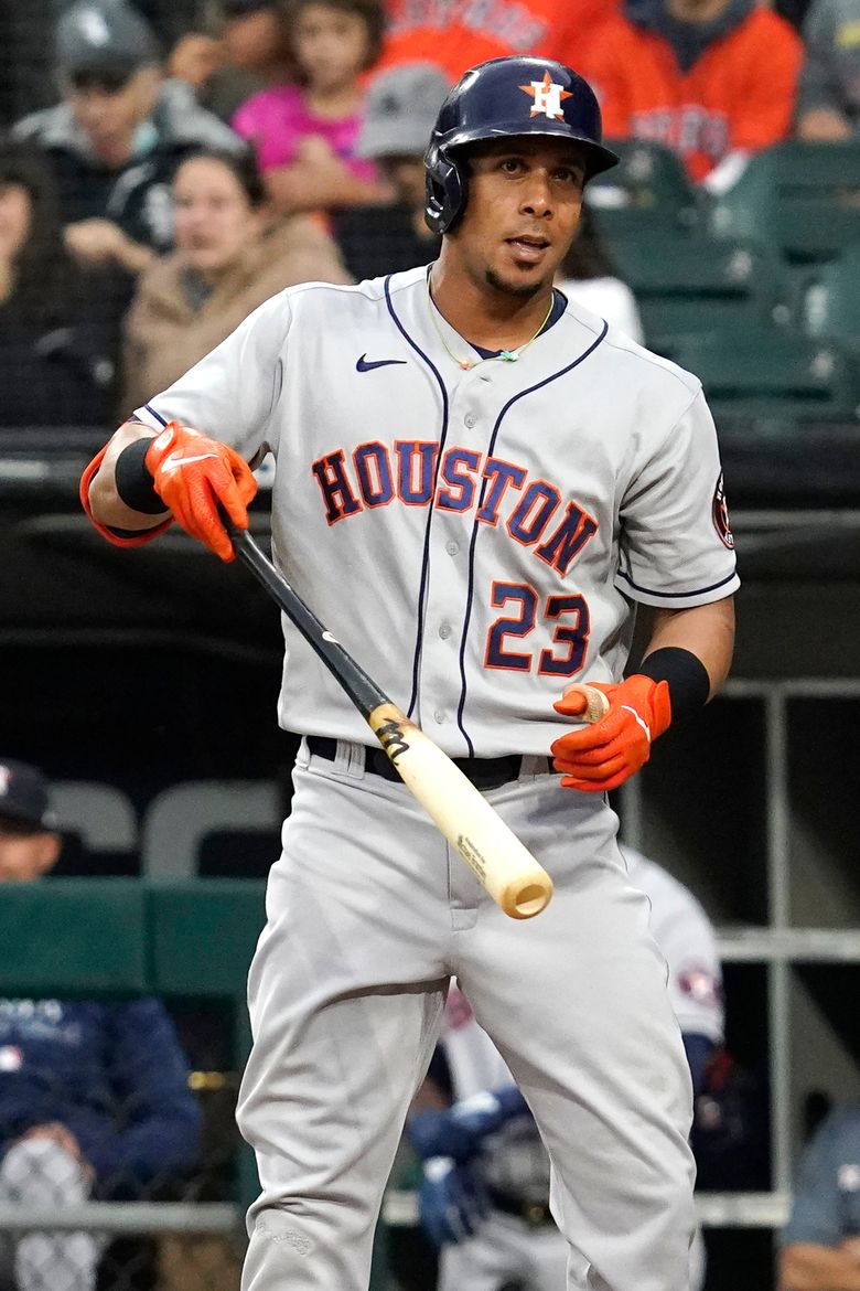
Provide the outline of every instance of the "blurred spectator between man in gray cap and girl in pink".
{"type": "Polygon", "coordinates": [[[215,0],[170,50],[168,71],[223,121],[264,89],[295,79],[284,0],[215,0]]]}

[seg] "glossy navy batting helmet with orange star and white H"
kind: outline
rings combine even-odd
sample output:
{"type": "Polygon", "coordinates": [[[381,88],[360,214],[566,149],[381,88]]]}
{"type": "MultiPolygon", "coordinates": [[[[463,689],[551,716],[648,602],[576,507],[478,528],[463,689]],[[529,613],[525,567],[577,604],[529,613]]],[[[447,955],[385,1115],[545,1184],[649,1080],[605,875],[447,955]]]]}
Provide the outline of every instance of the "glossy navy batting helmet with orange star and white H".
{"type": "Polygon", "coordinates": [[[557,134],[574,139],[585,156],[585,178],[618,164],[601,143],[601,110],[588,81],[551,58],[491,58],[451,89],[431,134],[424,168],[424,218],[447,232],[465,210],[467,170],[456,151],[478,139],[557,134]]]}

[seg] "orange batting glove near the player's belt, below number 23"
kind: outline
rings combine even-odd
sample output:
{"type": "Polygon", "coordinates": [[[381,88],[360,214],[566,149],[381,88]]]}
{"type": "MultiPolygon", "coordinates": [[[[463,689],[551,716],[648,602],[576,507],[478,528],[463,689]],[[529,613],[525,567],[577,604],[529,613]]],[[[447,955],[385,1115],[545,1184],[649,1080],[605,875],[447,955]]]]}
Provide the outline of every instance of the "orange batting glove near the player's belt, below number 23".
{"type": "MultiPolygon", "coordinates": [[[[565,788],[605,793],[623,785],[651,757],[651,742],[672,722],[669,684],[641,673],[616,686],[588,684],[607,697],[609,713],[592,726],[560,736],[551,751],[565,788]]],[[[585,706],[585,696],[575,687],[553,704],[569,718],[581,717],[585,706]]]]}

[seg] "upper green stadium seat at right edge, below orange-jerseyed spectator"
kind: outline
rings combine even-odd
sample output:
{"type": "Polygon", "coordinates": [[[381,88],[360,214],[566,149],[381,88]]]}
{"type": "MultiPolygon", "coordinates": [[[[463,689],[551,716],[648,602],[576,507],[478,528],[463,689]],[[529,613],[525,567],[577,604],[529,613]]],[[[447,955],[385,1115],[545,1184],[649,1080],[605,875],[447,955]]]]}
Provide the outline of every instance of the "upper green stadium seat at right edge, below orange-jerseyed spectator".
{"type": "Polygon", "coordinates": [[[714,201],[709,226],[770,244],[788,263],[834,259],[860,238],[860,141],[792,139],[757,152],[714,201]]]}

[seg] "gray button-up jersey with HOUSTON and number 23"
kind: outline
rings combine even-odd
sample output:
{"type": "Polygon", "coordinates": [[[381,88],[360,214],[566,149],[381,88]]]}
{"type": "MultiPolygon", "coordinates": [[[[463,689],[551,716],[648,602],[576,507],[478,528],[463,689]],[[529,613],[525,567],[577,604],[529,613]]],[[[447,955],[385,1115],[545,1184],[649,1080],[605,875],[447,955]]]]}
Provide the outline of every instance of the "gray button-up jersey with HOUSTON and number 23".
{"type": "MultiPolygon", "coordinates": [[[[271,449],[276,562],[446,753],[542,754],[565,686],[619,679],[633,602],[738,587],[717,440],[695,377],[572,302],[517,361],[464,347],[425,269],[306,284],[137,414],[271,449]]],[[[281,724],[366,740],[284,631],[281,724]]]]}

